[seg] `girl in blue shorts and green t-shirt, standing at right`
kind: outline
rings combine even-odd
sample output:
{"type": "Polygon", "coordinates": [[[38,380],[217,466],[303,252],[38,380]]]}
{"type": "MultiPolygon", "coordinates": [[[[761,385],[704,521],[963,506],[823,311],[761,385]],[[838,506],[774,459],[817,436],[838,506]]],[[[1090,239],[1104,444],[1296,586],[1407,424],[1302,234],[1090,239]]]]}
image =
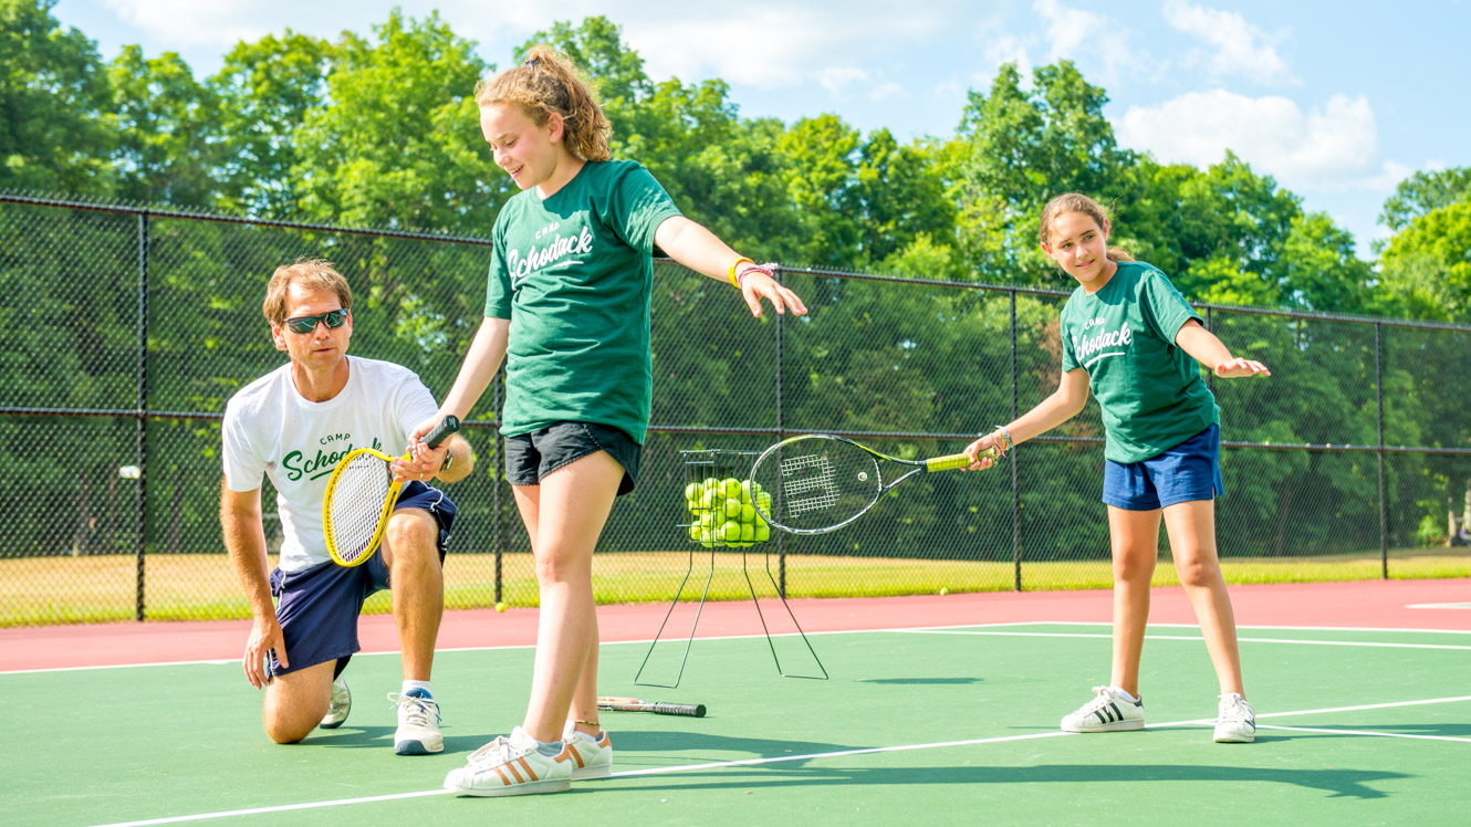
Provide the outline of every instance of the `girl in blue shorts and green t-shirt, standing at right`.
{"type": "Polygon", "coordinates": [[[1093,199],[1066,194],[1041,210],[1041,249],[1078,288],[1062,308],[1062,381],[1056,393],[965,450],[987,468],[1005,453],[1077,416],[1089,391],[1103,412],[1103,502],[1114,553],[1114,670],[1109,686],[1062,718],[1072,733],[1140,730],[1139,659],[1149,621],[1149,581],[1164,518],[1175,571],[1194,606],[1221,683],[1215,740],[1247,743],[1256,721],[1242,689],[1236,620],[1215,547],[1221,496],[1219,408],[1200,378],[1269,375],[1231,356],[1165,274],[1108,247],[1109,221],[1093,199]]]}

